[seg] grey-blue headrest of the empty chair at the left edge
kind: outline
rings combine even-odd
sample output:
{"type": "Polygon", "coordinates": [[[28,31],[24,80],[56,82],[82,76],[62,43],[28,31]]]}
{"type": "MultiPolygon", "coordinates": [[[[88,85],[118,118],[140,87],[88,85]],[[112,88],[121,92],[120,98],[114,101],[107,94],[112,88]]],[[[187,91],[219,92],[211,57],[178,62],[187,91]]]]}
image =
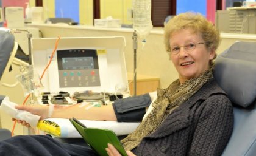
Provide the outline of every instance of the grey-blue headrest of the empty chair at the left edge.
{"type": "Polygon", "coordinates": [[[14,46],[14,36],[6,30],[0,30],[0,79],[14,46]]]}

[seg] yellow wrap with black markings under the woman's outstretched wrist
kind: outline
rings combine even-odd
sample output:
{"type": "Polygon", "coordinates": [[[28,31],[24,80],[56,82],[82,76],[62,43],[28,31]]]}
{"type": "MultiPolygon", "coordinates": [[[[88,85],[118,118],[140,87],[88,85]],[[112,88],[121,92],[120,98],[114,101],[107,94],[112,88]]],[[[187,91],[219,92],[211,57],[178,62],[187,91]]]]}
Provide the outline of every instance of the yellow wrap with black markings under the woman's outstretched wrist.
{"type": "Polygon", "coordinates": [[[56,137],[60,137],[61,135],[60,126],[49,120],[39,121],[37,124],[37,128],[56,137]]]}

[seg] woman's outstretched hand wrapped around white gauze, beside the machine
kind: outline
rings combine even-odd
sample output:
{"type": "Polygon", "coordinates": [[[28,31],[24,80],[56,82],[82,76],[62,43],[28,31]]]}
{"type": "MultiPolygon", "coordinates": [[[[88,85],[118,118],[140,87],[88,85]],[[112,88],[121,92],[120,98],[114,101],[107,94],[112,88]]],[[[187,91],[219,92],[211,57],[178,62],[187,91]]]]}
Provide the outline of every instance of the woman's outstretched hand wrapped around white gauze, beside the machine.
{"type": "MultiPolygon", "coordinates": [[[[43,120],[44,118],[48,117],[49,106],[45,106],[45,105],[18,105],[18,106],[15,106],[15,108],[18,109],[18,110],[26,110],[27,112],[30,112],[32,114],[39,115],[39,116],[41,116],[40,120],[43,120]]],[[[12,120],[15,121],[16,119],[12,118],[12,120]]],[[[16,120],[16,121],[17,121],[17,123],[20,123],[23,126],[30,127],[30,124],[26,123],[26,121],[22,121],[22,120],[16,120]]]]}

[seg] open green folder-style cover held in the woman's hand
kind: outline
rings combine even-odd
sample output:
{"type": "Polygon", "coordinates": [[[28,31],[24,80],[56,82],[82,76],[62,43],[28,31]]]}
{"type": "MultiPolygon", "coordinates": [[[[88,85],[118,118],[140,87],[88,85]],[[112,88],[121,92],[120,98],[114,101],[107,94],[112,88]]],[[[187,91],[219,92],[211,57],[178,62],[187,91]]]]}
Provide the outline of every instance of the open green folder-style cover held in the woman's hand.
{"type": "Polygon", "coordinates": [[[76,118],[70,118],[69,121],[71,121],[79,134],[82,135],[85,142],[87,142],[99,156],[108,156],[105,150],[108,143],[115,146],[121,155],[127,156],[115,132],[109,129],[88,128],[76,118]]]}

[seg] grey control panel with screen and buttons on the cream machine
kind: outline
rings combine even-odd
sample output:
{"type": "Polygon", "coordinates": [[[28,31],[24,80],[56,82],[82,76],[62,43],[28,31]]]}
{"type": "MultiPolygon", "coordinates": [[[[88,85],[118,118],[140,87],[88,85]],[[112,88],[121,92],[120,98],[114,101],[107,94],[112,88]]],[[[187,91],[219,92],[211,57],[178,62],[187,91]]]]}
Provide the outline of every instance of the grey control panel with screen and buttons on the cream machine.
{"type": "Polygon", "coordinates": [[[57,62],[60,87],[101,86],[96,50],[57,50],[57,62]]]}

